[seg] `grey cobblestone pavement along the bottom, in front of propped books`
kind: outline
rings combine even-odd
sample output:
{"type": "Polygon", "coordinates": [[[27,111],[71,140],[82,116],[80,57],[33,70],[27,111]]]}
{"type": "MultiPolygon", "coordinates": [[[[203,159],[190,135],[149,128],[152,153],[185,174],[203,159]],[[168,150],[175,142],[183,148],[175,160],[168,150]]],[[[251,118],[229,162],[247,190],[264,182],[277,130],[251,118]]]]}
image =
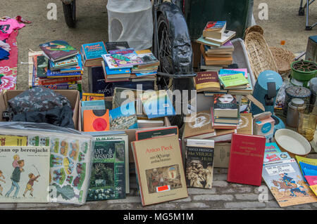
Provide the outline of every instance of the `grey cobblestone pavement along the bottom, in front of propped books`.
{"type": "Polygon", "coordinates": [[[66,204],[0,204],[0,209],[66,209],[66,210],[180,210],[180,209],[269,209],[269,210],[316,210],[317,203],[280,208],[263,182],[261,187],[228,183],[227,169],[214,169],[213,188],[188,188],[189,197],[172,202],[143,207],[134,175],[130,176],[130,195],[125,199],[87,202],[82,206],[66,204]],[[268,192],[266,194],[266,192],[268,192]],[[263,202],[263,200],[266,200],[263,202]]]}

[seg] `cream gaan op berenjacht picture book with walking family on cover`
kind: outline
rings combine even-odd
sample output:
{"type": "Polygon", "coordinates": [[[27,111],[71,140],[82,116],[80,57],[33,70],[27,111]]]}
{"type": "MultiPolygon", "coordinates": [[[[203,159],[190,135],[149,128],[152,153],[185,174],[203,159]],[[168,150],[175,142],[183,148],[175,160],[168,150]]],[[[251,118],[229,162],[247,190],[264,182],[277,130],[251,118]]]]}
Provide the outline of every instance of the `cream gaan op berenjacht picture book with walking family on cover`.
{"type": "Polygon", "coordinates": [[[46,146],[0,146],[0,202],[48,203],[49,155],[46,146]]]}

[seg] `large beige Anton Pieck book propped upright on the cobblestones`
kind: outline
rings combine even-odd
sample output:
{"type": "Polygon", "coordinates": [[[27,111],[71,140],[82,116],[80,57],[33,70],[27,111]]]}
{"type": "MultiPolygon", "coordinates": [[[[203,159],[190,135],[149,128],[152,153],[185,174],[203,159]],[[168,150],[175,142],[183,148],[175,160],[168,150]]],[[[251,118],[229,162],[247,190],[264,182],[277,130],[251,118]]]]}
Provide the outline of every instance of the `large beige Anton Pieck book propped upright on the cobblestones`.
{"type": "Polygon", "coordinates": [[[188,197],[178,135],[131,145],[142,206],[188,197]]]}

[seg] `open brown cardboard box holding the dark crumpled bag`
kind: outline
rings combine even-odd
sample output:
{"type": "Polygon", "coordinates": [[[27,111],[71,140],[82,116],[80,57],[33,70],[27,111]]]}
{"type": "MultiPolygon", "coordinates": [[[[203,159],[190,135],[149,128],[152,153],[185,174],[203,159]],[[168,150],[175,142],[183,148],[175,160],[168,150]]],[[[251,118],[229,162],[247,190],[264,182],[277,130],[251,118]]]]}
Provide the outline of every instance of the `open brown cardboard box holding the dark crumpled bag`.
{"type": "MultiPolygon", "coordinates": [[[[80,92],[77,90],[56,90],[57,93],[66,96],[70,101],[70,105],[73,109],[73,121],[75,124],[75,129],[79,130],[79,105],[80,105],[80,92]]],[[[0,93],[0,121],[2,121],[2,112],[8,107],[8,100],[14,98],[15,96],[23,93],[21,90],[8,90],[0,93]]]]}

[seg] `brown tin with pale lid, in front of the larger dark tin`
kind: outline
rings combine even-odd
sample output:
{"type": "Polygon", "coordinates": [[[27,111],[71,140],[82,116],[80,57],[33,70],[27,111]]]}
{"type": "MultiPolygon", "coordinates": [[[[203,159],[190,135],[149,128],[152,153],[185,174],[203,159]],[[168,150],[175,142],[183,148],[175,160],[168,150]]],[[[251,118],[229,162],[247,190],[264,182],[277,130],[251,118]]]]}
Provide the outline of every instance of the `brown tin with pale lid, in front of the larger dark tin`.
{"type": "Polygon", "coordinates": [[[299,111],[304,110],[304,100],[300,98],[293,98],[292,101],[288,104],[286,124],[293,128],[298,126],[299,120],[299,111]]]}

